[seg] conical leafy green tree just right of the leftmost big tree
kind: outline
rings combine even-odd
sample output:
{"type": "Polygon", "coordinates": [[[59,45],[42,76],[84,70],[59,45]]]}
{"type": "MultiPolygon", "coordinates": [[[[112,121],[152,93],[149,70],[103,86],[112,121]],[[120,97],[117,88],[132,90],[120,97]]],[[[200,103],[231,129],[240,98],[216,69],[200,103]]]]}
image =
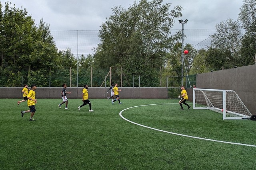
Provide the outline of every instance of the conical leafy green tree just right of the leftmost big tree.
{"type": "Polygon", "coordinates": [[[24,57],[27,59],[28,82],[34,82],[33,77],[37,77],[39,86],[49,86],[49,76],[52,76],[58,70],[57,60],[61,55],[58,53],[50,34],[50,25],[43,22],[43,20],[40,20],[34,38],[36,42],[31,47],[33,51],[30,55],[22,55],[21,57],[21,59],[24,57]]]}

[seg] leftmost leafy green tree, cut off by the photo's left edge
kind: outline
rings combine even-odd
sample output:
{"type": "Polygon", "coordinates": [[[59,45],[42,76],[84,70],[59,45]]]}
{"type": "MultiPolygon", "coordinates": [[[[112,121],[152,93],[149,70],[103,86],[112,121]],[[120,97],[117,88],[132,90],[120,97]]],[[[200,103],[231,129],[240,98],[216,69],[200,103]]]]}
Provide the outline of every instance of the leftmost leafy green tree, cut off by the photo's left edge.
{"type": "Polygon", "coordinates": [[[31,16],[27,16],[27,11],[20,10],[5,4],[2,11],[1,4],[0,17],[0,67],[1,75],[6,86],[15,86],[15,80],[18,80],[20,69],[23,68],[23,61],[20,59],[22,55],[27,55],[32,52],[31,47],[34,44],[34,39],[31,35],[35,32],[34,20],[31,16]],[[6,81],[8,78],[10,81],[6,81]]]}

